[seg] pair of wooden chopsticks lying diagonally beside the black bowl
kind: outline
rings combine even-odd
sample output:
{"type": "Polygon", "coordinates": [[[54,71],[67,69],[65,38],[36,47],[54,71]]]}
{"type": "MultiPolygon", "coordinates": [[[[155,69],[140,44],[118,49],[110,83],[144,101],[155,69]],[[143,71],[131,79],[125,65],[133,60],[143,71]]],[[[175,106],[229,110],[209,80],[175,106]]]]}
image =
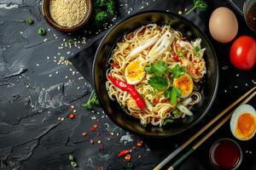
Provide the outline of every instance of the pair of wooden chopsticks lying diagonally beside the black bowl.
{"type": "MultiPolygon", "coordinates": [[[[239,99],[236,99],[234,103],[229,105],[224,111],[220,112],[218,116],[212,119],[212,121],[208,122],[207,125],[201,128],[200,131],[195,133],[194,136],[192,136],[190,139],[188,139],[184,144],[179,146],[176,150],[172,151],[172,153],[166,157],[165,160],[161,161],[159,165],[154,167],[154,170],[160,170],[160,168],[164,167],[166,163],[172,160],[173,157],[177,156],[178,153],[180,153],[183,149],[185,149],[190,143],[192,143],[198,136],[201,135],[201,133],[204,133],[208,127],[211,127],[213,123],[217,122],[218,119],[222,116],[224,116],[228,111],[230,111],[234,106],[236,106],[238,103],[241,102],[241,100],[245,99],[240,105],[247,104],[248,101],[253,99],[253,97],[256,95],[256,91],[254,91],[256,87],[250,89],[246,94],[243,94],[239,99]],[[253,92],[254,91],[254,92],[253,92]],[[251,95],[249,95],[251,94],[251,95]]],[[[188,151],[186,151],[183,156],[177,159],[171,167],[168,168],[168,170],[175,169],[184,159],[186,159],[188,156],[190,156],[201,144],[203,144],[213,133],[215,133],[219,127],[221,127],[225,122],[227,122],[230,117],[232,116],[233,111],[230,112],[229,115],[225,116],[224,119],[219,122],[216,127],[213,127],[210,132],[208,132],[201,140],[199,140],[195,145],[193,145],[188,151]]]]}

